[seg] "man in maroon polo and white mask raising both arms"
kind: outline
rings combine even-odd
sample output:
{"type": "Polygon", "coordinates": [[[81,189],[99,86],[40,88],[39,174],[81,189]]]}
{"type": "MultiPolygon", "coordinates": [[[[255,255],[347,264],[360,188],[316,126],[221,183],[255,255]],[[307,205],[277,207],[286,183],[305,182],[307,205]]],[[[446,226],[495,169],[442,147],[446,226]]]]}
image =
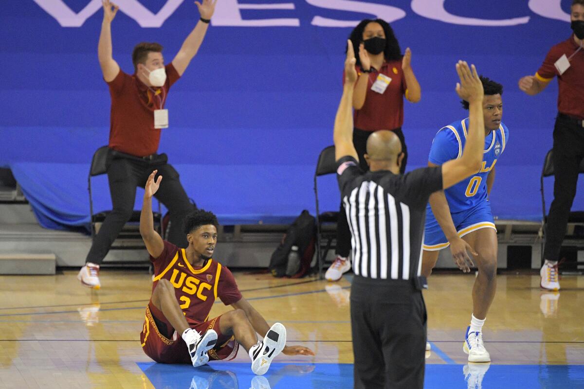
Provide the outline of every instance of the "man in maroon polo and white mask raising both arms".
{"type": "MultiPolygon", "coordinates": [[[[99,36],[98,58],[103,79],[112,97],[110,112],[109,164],[107,178],[113,209],[103,222],[87,254],[86,264],[77,278],[82,285],[100,288],[99,264],[134,210],[136,188],[144,187],[152,170],[164,176],[157,198],[168,208],[172,226],[182,225],[183,216],[193,205],[179,181],[179,174],[167,163],[165,154],[157,154],[161,128],[169,125],[164,109],[168,91],[183,75],[190,60],[197,54],[207,32],[217,0],[195,2],[201,19],[171,64],[164,65],[162,46],[140,43],[132,53],[134,74],[128,75],[112,57],[112,20],[118,6],[103,0],[103,22],[99,36]]],[[[168,240],[186,247],[182,228],[172,228],[168,240]]]]}

